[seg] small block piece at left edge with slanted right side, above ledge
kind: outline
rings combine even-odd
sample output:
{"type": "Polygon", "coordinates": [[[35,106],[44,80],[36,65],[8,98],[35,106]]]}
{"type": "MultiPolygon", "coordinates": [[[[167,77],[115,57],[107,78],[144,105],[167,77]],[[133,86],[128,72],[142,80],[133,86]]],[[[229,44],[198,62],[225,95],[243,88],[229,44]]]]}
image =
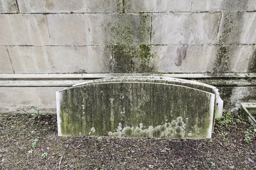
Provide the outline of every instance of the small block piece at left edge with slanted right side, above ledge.
{"type": "Polygon", "coordinates": [[[12,74],[12,64],[6,47],[0,47],[0,74],[12,74]]]}

